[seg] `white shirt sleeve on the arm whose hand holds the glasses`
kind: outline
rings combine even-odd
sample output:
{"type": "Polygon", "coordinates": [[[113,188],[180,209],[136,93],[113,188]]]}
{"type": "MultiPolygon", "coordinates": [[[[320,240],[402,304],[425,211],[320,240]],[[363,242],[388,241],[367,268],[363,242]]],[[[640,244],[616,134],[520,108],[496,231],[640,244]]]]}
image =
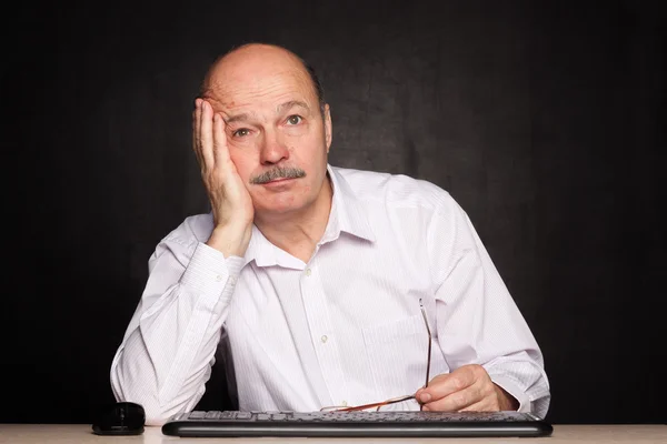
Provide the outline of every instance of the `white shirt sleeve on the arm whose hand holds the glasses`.
{"type": "Polygon", "coordinates": [[[438,342],[448,366],[482,365],[519,402],[545,417],[550,402],[542,353],[464,210],[448,194],[428,229],[437,285],[438,342]]]}

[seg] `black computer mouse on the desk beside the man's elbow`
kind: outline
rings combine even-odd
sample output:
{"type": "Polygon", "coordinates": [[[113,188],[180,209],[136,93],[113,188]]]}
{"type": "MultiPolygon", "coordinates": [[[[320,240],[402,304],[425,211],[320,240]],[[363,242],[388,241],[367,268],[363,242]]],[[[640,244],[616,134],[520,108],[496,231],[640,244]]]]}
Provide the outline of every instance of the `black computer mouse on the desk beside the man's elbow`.
{"type": "Polygon", "coordinates": [[[146,412],[132,402],[118,402],[101,408],[92,422],[96,435],[140,435],[143,433],[146,412]]]}

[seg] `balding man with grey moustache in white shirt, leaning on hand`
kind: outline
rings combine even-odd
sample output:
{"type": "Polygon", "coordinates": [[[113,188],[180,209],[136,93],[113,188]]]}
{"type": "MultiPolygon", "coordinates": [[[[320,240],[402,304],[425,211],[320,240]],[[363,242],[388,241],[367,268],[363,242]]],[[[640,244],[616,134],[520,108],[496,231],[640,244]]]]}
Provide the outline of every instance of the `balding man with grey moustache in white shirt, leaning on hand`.
{"type": "Polygon", "coordinates": [[[546,414],[541,352],[466,213],[431,183],[329,165],[329,105],[301,59],[230,51],[192,127],[211,212],[150,258],[119,401],[156,425],[195,408],[220,347],[239,410],[415,395],[386,408],[546,414]]]}

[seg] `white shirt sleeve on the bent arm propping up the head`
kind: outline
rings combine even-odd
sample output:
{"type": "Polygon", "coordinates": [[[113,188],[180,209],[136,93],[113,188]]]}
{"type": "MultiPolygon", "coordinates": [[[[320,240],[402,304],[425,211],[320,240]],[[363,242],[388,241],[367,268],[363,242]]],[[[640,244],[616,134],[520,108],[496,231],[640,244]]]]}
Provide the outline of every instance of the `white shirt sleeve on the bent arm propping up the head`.
{"type": "Polygon", "coordinates": [[[243,260],[201,242],[166,239],[111,364],[117,401],[141,404],[148,425],[195,408],[205,393],[243,260]]]}

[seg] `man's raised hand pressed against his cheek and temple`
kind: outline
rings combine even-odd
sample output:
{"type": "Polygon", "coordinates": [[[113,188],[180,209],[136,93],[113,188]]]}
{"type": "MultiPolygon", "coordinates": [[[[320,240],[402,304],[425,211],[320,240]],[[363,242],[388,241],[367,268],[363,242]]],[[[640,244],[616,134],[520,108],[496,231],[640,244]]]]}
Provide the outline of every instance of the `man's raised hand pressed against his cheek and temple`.
{"type": "Polygon", "coordinates": [[[199,98],[192,112],[192,148],[213,213],[207,245],[225,258],[242,256],[252,234],[252,200],[229,155],[222,115],[199,98]]]}

